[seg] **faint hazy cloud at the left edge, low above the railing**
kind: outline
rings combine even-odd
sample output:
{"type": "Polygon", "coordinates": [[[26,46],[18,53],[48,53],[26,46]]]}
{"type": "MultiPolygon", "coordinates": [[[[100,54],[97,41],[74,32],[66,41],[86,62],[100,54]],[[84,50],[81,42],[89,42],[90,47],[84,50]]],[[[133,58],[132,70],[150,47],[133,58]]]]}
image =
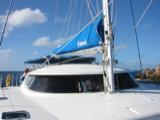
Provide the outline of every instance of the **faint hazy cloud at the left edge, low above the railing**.
{"type": "Polygon", "coordinates": [[[12,57],[12,50],[11,49],[2,49],[0,50],[0,61],[10,60],[12,57]]]}

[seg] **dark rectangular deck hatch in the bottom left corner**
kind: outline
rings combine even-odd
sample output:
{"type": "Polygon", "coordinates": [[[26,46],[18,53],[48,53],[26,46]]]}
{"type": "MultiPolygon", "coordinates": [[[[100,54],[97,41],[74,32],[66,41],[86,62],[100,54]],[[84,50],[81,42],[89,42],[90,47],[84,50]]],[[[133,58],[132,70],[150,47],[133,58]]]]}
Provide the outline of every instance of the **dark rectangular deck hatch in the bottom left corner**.
{"type": "Polygon", "coordinates": [[[29,119],[30,114],[27,111],[10,111],[10,112],[3,112],[2,113],[2,120],[23,120],[23,119],[29,119]]]}

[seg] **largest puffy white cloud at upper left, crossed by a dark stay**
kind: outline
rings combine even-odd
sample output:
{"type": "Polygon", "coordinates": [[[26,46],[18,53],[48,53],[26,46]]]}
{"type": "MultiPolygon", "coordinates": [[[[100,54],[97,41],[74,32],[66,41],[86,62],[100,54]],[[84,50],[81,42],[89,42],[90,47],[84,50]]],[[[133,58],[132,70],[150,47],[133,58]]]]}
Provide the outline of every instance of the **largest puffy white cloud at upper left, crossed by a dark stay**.
{"type": "MultiPolygon", "coordinates": [[[[1,27],[4,24],[5,19],[5,15],[0,15],[1,27]]],[[[40,9],[32,10],[31,8],[25,8],[21,10],[16,10],[10,14],[6,31],[9,33],[15,28],[28,26],[34,23],[44,23],[46,21],[47,17],[40,9]]]]}

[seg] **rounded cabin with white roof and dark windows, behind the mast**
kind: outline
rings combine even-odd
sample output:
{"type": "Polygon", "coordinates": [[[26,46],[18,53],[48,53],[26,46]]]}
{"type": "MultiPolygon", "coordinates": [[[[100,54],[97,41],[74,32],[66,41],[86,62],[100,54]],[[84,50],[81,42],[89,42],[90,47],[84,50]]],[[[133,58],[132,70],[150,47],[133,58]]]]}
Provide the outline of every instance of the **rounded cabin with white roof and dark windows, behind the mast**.
{"type": "MultiPolygon", "coordinates": [[[[127,70],[114,70],[115,90],[138,87],[127,70]]],[[[103,68],[91,64],[63,64],[41,68],[29,73],[24,82],[32,91],[45,93],[102,92],[103,68]]]]}

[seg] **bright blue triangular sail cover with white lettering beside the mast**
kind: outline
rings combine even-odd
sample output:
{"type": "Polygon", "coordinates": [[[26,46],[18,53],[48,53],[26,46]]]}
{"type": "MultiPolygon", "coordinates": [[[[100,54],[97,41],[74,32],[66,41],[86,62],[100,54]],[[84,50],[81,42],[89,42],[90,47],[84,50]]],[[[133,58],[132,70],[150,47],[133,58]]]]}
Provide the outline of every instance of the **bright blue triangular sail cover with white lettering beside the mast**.
{"type": "Polygon", "coordinates": [[[54,54],[71,53],[79,50],[89,49],[101,45],[103,38],[102,16],[94,19],[73,39],[53,49],[54,54]]]}

